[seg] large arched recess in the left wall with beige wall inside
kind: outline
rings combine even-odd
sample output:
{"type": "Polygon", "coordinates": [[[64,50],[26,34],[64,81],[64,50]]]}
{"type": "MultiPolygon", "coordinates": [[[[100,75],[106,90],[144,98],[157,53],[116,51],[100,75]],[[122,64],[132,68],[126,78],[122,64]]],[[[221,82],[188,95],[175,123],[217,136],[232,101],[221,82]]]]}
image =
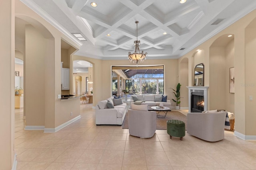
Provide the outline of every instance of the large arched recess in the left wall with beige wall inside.
{"type": "Polygon", "coordinates": [[[54,101],[50,98],[55,94],[54,37],[44,25],[29,16],[16,14],[15,20],[15,47],[24,54],[26,127],[44,127],[46,112],[54,118],[54,101]]]}

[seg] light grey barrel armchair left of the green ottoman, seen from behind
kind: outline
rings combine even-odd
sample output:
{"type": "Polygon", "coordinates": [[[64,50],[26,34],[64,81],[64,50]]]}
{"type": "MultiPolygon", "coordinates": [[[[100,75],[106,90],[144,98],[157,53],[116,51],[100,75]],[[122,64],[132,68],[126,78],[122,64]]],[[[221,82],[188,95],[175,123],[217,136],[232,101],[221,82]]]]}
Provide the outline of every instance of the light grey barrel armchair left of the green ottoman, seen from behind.
{"type": "Polygon", "coordinates": [[[132,110],[128,112],[128,128],[132,136],[150,138],[156,132],[156,112],[132,110]]]}

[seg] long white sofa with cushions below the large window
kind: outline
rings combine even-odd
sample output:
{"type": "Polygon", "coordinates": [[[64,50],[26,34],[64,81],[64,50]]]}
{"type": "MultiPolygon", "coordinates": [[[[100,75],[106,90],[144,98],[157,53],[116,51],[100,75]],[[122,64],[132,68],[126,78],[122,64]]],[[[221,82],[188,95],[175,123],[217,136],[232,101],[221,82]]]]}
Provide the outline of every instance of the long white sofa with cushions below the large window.
{"type": "Polygon", "coordinates": [[[163,104],[163,106],[170,107],[172,106],[172,103],[170,100],[167,99],[167,96],[165,95],[158,95],[158,94],[142,94],[142,95],[131,95],[131,104],[134,104],[134,97],[136,96],[138,101],[145,101],[142,102],[141,105],[148,105],[148,110],[152,110],[152,106],[159,106],[160,103],[163,104]],[[163,96],[165,97],[166,102],[163,102],[163,96]]]}

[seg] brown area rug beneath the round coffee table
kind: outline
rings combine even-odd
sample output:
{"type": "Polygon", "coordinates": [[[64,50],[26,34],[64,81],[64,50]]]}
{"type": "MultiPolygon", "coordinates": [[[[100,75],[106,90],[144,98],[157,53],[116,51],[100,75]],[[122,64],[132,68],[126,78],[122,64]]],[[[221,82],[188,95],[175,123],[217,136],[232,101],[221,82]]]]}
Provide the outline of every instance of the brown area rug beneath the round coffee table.
{"type": "MultiPolygon", "coordinates": [[[[160,115],[162,115],[164,113],[160,113],[160,115]]],[[[179,111],[168,111],[167,115],[165,118],[157,118],[156,117],[156,129],[160,129],[160,130],[166,130],[166,121],[171,120],[171,119],[177,119],[180,121],[183,121],[185,123],[185,129],[187,130],[187,117],[180,113],[179,111]]],[[[128,113],[126,113],[125,118],[124,118],[124,122],[122,125],[123,129],[128,129],[128,113]]]]}

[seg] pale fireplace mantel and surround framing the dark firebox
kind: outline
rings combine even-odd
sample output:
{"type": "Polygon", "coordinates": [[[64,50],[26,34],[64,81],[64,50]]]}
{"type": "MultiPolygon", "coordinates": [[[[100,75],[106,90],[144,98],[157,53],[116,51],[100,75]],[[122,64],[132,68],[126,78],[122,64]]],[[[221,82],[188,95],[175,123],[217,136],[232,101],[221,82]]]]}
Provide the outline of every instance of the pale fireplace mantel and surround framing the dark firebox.
{"type": "Polygon", "coordinates": [[[188,88],[188,113],[191,112],[191,94],[192,92],[204,92],[204,110],[208,108],[208,86],[187,86],[188,88]]]}

